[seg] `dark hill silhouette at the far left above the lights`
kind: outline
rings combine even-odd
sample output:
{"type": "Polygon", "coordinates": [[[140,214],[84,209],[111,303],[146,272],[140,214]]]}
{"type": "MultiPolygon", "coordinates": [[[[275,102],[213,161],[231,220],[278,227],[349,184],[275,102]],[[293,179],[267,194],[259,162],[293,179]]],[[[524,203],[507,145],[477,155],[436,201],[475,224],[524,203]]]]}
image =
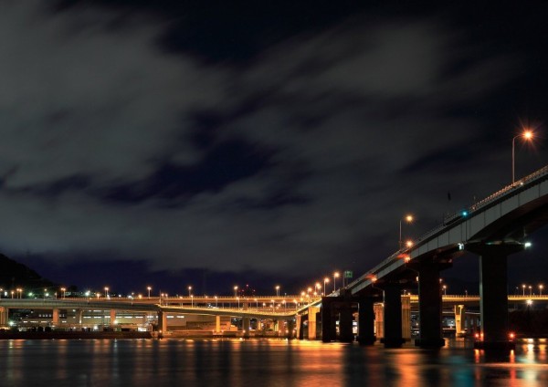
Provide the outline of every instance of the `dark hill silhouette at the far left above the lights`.
{"type": "Polygon", "coordinates": [[[44,288],[57,288],[58,284],[40,276],[30,267],[0,254],[0,288],[9,292],[23,288],[25,293],[32,291],[42,293],[44,288]]]}

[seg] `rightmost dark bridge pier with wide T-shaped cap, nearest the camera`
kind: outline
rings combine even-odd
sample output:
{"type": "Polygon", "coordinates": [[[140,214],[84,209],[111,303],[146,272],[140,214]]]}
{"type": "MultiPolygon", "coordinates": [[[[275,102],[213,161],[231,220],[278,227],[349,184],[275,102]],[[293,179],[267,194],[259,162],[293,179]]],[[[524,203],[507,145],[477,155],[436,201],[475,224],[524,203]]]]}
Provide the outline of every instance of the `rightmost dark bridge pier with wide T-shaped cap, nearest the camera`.
{"type": "Polygon", "coordinates": [[[519,244],[466,246],[467,250],[479,254],[479,319],[483,340],[479,348],[515,348],[509,338],[508,325],[508,256],[522,251],[519,244]]]}

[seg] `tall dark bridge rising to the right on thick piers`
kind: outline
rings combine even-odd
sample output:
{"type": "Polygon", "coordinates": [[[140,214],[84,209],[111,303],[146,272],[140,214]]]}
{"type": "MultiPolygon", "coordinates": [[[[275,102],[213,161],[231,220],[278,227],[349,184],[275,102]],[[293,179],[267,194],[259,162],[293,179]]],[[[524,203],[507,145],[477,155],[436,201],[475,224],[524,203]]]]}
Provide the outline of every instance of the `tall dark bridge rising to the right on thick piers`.
{"type": "Polygon", "coordinates": [[[508,343],[507,257],[522,251],[527,236],[548,223],[548,166],[448,216],[442,225],[423,235],[414,246],[389,256],[340,291],[323,298],[321,336],[352,340],[352,316],[359,309],[359,337],[374,342],[374,302],[385,306],[385,346],[398,347],[402,338],[404,288],[418,278],[420,338],[416,344],[440,347],[442,296],[439,273],[453,259],[471,252],[479,255],[479,309],[485,347],[508,343]]]}

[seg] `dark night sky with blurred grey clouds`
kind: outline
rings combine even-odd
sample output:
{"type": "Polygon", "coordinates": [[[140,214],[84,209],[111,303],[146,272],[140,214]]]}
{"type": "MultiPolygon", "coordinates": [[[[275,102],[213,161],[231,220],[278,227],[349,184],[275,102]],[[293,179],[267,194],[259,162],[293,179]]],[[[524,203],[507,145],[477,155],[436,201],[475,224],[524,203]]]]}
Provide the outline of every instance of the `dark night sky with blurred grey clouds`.
{"type": "MultiPolygon", "coordinates": [[[[231,3],[0,1],[5,255],[82,288],[294,291],[511,183],[523,126],[516,174],[548,164],[545,3],[231,3]]],[[[528,254],[516,281],[548,277],[528,254]]]]}

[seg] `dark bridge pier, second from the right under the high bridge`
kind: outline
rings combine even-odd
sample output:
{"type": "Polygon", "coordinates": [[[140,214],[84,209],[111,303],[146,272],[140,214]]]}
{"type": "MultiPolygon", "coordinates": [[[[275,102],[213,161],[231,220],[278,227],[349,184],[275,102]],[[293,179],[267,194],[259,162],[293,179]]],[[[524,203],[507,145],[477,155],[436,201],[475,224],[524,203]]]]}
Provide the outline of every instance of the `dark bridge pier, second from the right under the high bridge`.
{"type": "Polygon", "coordinates": [[[424,264],[418,270],[418,321],[420,339],[415,345],[421,348],[440,348],[445,345],[441,328],[441,287],[439,267],[424,264]]]}

